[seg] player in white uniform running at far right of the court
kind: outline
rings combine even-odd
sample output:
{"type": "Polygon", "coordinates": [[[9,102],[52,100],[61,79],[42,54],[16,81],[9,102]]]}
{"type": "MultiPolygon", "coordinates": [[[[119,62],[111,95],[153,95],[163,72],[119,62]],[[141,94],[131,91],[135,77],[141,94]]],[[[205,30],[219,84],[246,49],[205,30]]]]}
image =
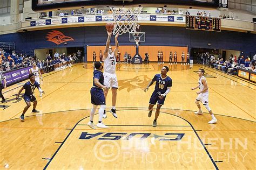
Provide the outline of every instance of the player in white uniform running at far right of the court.
{"type": "Polygon", "coordinates": [[[203,105],[205,106],[205,108],[208,110],[208,112],[212,116],[212,120],[208,123],[213,124],[213,123],[217,123],[217,119],[214,117],[213,112],[212,112],[211,108],[209,107],[209,101],[208,101],[209,92],[208,92],[207,81],[204,77],[204,73],[205,73],[205,70],[203,68],[199,68],[199,70],[198,70],[198,76],[199,76],[198,83],[199,83],[199,85],[195,88],[191,88],[191,90],[194,90],[194,89],[197,89],[197,88],[200,89],[200,91],[197,92],[198,96],[197,96],[197,99],[195,101],[199,111],[194,112],[194,114],[203,115],[203,111],[201,110],[201,107],[200,107],[200,104],[199,104],[199,102],[202,102],[203,105]]]}

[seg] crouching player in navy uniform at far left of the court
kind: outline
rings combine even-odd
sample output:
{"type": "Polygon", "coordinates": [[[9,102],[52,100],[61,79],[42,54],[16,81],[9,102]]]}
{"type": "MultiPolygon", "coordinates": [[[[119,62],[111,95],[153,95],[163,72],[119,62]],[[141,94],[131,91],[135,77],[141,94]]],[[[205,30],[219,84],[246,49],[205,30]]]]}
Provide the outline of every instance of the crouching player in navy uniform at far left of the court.
{"type": "Polygon", "coordinates": [[[31,73],[29,74],[29,79],[30,81],[26,82],[23,87],[21,88],[21,90],[19,90],[18,95],[16,96],[16,100],[18,100],[19,98],[19,94],[21,94],[22,90],[25,89],[25,94],[23,96],[25,102],[26,102],[26,107],[24,108],[22,115],[21,115],[21,121],[24,122],[24,115],[25,112],[29,109],[30,107],[30,102],[33,102],[33,110],[32,113],[38,113],[39,111],[36,110],[36,105],[37,105],[37,101],[36,101],[36,97],[33,96],[33,91],[35,90],[35,88],[38,88],[40,93],[44,93],[44,91],[39,87],[38,82],[35,81],[35,74],[31,73]]]}

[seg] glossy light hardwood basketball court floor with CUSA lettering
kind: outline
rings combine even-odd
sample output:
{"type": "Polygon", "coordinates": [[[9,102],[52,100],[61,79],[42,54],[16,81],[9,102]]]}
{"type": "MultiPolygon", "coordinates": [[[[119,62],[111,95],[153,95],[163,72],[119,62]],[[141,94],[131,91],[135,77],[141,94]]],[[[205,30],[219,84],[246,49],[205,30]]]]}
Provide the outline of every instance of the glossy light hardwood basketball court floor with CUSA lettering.
{"type": "MultiPolygon", "coordinates": [[[[165,64],[166,65],[166,64],[165,64]]],[[[162,66],[117,67],[117,114],[107,112],[110,129],[92,130],[90,116],[92,63],[44,75],[39,114],[19,116],[25,106],[15,101],[22,83],[3,90],[8,102],[0,110],[0,169],[255,169],[255,84],[201,65],[170,65],[171,92],[153,128],[147,117],[149,98],[143,88],[162,66]],[[196,71],[205,68],[210,107],[194,115],[196,71]],[[3,109],[5,108],[5,109],[3,109]]],[[[111,92],[107,96],[111,107],[111,92]]],[[[94,121],[97,122],[98,115],[94,121]]]]}

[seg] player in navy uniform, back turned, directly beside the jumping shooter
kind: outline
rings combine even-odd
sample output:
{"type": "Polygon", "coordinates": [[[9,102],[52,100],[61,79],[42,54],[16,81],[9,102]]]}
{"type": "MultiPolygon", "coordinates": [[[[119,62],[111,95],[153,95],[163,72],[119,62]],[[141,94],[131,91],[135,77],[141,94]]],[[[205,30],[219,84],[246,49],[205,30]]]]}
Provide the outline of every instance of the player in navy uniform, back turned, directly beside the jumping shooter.
{"type": "Polygon", "coordinates": [[[99,61],[96,61],[95,64],[95,70],[93,72],[93,87],[91,88],[91,103],[92,103],[92,110],[91,110],[91,116],[90,116],[90,122],[87,123],[87,125],[91,129],[96,129],[93,125],[93,117],[95,115],[95,111],[98,107],[99,108],[99,122],[97,124],[98,128],[109,128],[109,126],[106,126],[103,124],[103,114],[104,110],[106,108],[106,102],[105,102],[105,96],[103,90],[108,90],[106,86],[104,86],[104,76],[103,76],[103,66],[102,63],[99,61]]]}

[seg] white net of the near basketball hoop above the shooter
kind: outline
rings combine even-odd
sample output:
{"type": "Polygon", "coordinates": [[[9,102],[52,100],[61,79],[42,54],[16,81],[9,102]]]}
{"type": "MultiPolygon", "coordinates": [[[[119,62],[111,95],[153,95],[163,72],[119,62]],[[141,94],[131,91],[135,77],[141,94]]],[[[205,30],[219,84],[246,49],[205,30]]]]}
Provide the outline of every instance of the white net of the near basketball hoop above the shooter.
{"type": "Polygon", "coordinates": [[[130,32],[136,33],[137,22],[139,14],[142,11],[142,7],[138,8],[127,8],[120,9],[111,8],[113,19],[114,19],[114,30],[113,34],[122,35],[123,33],[130,32]]]}

